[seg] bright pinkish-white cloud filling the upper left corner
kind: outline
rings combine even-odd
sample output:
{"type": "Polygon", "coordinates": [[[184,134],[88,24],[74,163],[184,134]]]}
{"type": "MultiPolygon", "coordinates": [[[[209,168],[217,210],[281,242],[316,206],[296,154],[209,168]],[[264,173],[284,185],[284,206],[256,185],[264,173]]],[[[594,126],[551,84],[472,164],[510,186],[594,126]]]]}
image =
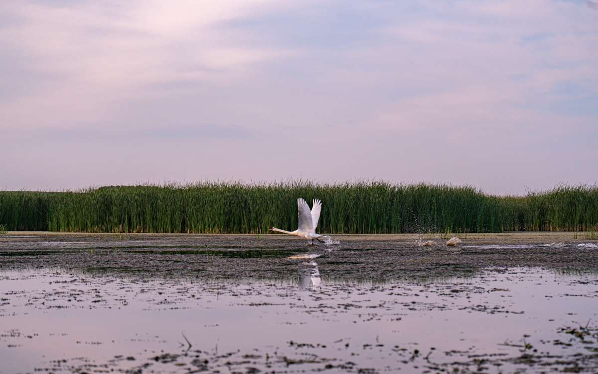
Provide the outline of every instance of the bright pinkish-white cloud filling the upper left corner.
{"type": "Polygon", "coordinates": [[[0,124],[114,120],[114,104],[171,94],[160,84],[233,79],[257,61],[285,54],[243,44],[242,36],[218,27],[256,4],[264,1],[5,5],[0,19],[13,21],[0,26],[2,60],[11,66],[2,92],[11,95],[0,102],[0,124]],[[16,76],[24,79],[16,82],[16,76]]]}

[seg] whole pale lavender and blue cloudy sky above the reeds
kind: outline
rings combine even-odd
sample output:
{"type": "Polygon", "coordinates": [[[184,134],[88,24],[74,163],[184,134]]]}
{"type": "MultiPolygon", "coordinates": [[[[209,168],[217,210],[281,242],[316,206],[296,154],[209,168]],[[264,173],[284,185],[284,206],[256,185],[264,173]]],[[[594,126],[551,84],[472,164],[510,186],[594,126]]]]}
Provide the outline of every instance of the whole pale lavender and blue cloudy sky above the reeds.
{"type": "Polygon", "coordinates": [[[598,2],[0,4],[0,190],[598,181],[598,2]]]}

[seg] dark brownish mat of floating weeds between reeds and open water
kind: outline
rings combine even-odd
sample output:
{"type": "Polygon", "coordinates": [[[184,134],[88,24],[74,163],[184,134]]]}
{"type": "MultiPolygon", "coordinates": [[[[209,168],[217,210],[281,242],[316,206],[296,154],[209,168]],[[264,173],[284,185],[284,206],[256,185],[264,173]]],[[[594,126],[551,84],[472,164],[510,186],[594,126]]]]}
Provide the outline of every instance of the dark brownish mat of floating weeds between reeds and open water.
{"type": "Polygon", "coordinates": [[[322,277],[411,279],[467,276],[482,268],[598,269],[598,240],[584,233],[535,232],[334,235],[340,245],[307,245],[283,234],[90,234],[9,232],[0,235],[0,270],[66,268],[173,277],[288,277],[295,254],[319,254],[322,277]],[[587,239],[586,239],[587,238],[587,239]],[[432,240],[432,246],[422,246],[432,240]],[[588,246],[579,246],[588,245],[588,246]]]}

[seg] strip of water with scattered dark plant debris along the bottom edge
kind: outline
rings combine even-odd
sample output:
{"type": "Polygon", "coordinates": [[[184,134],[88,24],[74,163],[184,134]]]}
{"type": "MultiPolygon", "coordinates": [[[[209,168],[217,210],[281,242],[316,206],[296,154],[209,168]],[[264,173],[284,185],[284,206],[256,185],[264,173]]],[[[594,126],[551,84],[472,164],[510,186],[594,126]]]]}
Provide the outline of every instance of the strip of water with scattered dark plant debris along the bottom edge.
{"type": "MultiPolygon", "coordinates": [[[[50,367],[36,368],[38,372],[71,373],[380,373],[380,372],[420,372],[420,373],[487,373],[491,369],[498,372],[544,373],[575,372],[595,373],[598,370],[598,329],[593,326],[563,327],[556,334],[591,336],[593,341],[584,341],[587,353],[549,354],[538,353],[533,349],[542,342],[533,345],[521,340],[520,344],[505,344],[516,347],[511,353],[476,353],[475,347],[465,351],[438,351],[431,347],[427,350],[385,347],[380,344],[366,344],[364,349],[376,348],[382,356],[388,357],[385,366],[362,366],[352,360],[337,356],[338,351],[349,349],[343,341],[328,346],[315,342],[289,342],[290,350],[271,348],[269,351],[257,348],[243,352],[241,350],[218,353],[217,350],[182,350],[178,353],[160,353],[155,356],[139,358],[115,356],[105,363],[97,363],[80,357],[71,360],[51,361],[50,367]],[[405,371],[406,370],[406,371],[405,371]]],[[[529,336],[528,336],[529,338],[529,336]]],[[[577,338],[577,336],[575,337],[577,338]]],[[[558,339],[556,339],[558,340],[558,339]]],[[[147,354],[146,354],[147,356],[147,354]]],[[[355,356],[356,357],[356,356],[355,356]]]]}

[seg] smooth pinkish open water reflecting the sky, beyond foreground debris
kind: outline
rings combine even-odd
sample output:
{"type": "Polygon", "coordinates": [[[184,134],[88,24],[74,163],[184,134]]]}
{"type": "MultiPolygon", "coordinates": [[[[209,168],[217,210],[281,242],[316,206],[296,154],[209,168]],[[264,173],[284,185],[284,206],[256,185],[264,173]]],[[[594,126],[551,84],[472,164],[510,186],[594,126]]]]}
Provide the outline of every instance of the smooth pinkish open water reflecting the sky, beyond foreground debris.
{"type": "Polygon", "coordinates": [[[321,279],[316,262],[304,266],[289,279],[210,282],[0,273],[0,372],[32,372],[74,357],[124,355],[139,363],[178,350],[182,331],[194,349],[294,354],[288,342],[295,341],[383,368],[396,361],[389,354],[397,345],[434,347],[436,361],[450,362],[446,351],[514,354],[518,348],[499,344],[520,344],[524,335],[550,342],[561,338],[559,327],[598,320],[596,274],[516,268],[446,283],[371,283],[321,279]]]}

